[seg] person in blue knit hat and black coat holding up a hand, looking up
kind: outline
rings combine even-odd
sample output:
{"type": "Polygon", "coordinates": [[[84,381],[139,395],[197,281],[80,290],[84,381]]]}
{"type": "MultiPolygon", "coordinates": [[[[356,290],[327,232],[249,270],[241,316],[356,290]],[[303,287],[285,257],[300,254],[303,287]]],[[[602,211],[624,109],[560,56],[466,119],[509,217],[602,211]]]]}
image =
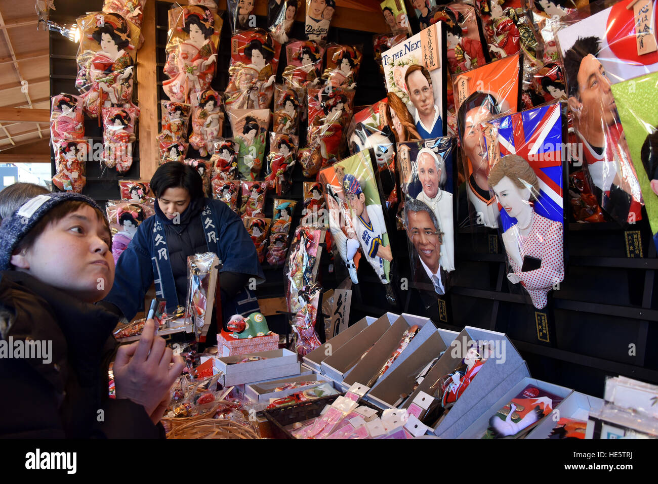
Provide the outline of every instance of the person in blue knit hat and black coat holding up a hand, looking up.
{"type": "Polygon", "coordinates": [[[38,195],[4,220],[0,392],[12,395],[13,410],[0,416],[1,437],[162,435],[154,423],[184,364],[155,337],[152,321],[116,354],[117,399],[102,397],[104,347],[117,317],[93,303],[113,285],[111,245],[103,212],[78,193],[38,195]]]}

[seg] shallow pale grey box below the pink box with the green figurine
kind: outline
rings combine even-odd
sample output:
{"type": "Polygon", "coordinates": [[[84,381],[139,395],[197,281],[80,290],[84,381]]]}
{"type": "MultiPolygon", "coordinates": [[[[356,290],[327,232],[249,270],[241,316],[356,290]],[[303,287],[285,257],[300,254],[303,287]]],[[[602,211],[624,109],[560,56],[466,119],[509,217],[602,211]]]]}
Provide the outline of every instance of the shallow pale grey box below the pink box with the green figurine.
{"type": "Polygon", "coordinates": [[[297,361],[297,353],[286,349],[222,356],[222,358],[216,358],[215,368],[223,373],[220,383],[224,387],[297,375],[301,370],[297,361]],[[238,364],[248,356],[262,356],[267,359],[238,364]]]}

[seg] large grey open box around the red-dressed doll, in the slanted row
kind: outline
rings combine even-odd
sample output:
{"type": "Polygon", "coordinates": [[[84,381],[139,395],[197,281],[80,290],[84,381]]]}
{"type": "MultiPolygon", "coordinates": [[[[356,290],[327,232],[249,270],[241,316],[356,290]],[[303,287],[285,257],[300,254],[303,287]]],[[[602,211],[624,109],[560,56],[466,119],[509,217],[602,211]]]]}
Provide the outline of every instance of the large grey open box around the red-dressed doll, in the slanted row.
{"type": "Polygon", "coordinates": [[[507,335],[467,326],[447,347],[447,351],[420,383],[411,395],[411,399],[405,402],[404,407],[407,408],[411,400],[417,399],[420,392],[431,395],[433,392],[430,387],[438,379],[452,373],[459,366],[472,342],[478,341],[492,343],[494,354],[482,364],[482,368],[459,400],[437,422],[432,423],[434,434],[439,437],[456,438],[502,395],[519,383],[520,379],[530,375],[525,362],[507,335]]]}

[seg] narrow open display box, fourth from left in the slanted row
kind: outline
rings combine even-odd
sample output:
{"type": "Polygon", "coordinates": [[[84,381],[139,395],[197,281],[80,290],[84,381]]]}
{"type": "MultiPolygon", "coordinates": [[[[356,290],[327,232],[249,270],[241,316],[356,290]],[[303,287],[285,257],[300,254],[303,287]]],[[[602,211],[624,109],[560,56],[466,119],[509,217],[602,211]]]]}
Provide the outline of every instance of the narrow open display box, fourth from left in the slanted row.
{"type": "MultiPolygon", "coordinates": [[[[430,329],[430,326],[426,327],[430,329]]],[[[423,327],[423,331],[426,327],[423,327]]],[[[366,397],[368,401],[380,408],[395,408],[395,403],[400,399],[401,394],[411,393],[418,373],[447,349],[445,340],[438,330],[427,332],[429,334],[426,337],[421,337],[418,333],[411,340],[407,347],[411,353],[405,355],[403,361],[388,370],[384,378],[373,385],[366,397]]]]}

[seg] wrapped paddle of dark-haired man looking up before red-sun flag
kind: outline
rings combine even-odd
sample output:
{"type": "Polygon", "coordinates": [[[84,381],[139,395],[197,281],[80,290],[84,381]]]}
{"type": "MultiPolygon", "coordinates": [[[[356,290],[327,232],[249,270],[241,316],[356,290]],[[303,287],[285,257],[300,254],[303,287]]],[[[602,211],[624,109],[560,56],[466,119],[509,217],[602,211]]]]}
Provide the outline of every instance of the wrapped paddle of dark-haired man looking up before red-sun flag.
{"type": "Polygon", "coordinates": [[[627,9],[630,3],[621,1],[590,14],[605,5],[593,4],[563,17],[554,32],[580,145],[576,158],[603,210],[620,224],[634,223],[642,218],[642,191],[610,86],[658,70],[655,26],[653,33],[636,35],[634,9],[644,5],[649,11],[651,3],[635,3],[634,9],[627,9]]]}

